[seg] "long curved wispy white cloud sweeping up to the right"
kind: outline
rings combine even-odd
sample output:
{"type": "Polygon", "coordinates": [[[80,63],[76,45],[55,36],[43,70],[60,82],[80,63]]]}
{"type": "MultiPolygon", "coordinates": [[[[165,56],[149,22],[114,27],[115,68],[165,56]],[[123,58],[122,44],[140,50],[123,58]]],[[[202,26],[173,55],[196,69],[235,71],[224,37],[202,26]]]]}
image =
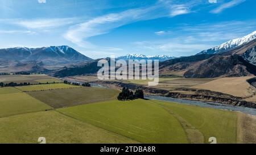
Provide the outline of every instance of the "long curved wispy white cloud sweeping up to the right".
{"type": "Polygon", "coordinates": [[[153,6],[146,9],[130,9],[118,14],[99,16],[69,28],[64,37],[81,47],[88,47],[91,44],[84,40],[89,37],[108,33],[113,28],[139,20],[155,19],[166,15],[166,12],[160,11],[160,9],[162,9],[160,6],[153,6]]]}

